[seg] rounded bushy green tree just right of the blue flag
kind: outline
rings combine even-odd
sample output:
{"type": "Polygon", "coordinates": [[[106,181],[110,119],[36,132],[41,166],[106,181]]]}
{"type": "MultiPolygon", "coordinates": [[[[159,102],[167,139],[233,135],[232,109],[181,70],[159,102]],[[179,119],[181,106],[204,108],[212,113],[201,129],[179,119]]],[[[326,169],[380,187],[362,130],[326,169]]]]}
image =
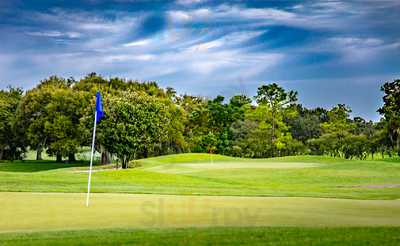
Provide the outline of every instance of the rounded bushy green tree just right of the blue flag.
{"type": "Polygon", "coordinates": [[[168,139],[168,108],[165,101],[145,93],[127,91],[105,98],[105,118],[99,124],[104,146],[121,161],[122,168],[147,157],[168,139]]]}

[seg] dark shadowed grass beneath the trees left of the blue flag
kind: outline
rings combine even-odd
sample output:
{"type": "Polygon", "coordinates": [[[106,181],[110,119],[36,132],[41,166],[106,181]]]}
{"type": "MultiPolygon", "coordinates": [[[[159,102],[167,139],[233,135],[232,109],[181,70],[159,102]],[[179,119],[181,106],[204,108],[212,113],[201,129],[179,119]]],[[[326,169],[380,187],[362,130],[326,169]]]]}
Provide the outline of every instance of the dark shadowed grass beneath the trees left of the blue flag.
{"type": "Polygon", "coordinates": [[[73,163],[55,162],[55,161],[6,161],[0,162],[0,172],[41,172],[61,168],[88,166],[87,161],[78,161],[73,163]]]}

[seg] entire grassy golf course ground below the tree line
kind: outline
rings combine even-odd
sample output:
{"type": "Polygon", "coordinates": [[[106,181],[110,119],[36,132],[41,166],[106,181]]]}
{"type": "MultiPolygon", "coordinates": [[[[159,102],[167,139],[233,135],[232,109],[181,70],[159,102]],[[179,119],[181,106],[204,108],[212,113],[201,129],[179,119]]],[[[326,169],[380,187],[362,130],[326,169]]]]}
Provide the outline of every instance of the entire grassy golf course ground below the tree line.
{"type": "Polygon", "coordinates": [[[188,153],[131,164],[95,165],[86,207],[87,162],[1,162],[0,245],[400,240],[396,158],[188,153]]]}

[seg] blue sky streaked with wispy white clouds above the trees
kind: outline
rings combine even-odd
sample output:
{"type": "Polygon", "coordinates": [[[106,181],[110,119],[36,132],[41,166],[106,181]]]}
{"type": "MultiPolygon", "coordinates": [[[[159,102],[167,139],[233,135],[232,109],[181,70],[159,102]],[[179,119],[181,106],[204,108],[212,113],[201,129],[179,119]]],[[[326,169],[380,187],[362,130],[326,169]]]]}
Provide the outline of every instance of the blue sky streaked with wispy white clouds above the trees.
{"type": "Polygon", "coordinates": [[[400,78],[399,13],[398,0],[1,0],[0,88],[91,72],[207,97],[276,82],[378,120],[380,85],[400,78]]]}

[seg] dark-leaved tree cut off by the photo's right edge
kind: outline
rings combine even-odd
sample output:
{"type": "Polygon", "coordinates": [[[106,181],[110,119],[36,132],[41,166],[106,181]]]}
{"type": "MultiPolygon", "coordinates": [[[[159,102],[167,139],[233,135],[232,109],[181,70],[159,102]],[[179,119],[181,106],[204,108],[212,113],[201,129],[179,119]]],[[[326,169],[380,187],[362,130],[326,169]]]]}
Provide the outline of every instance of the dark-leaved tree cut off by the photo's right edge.
{"type": "Polygon", "coordinates": [[[389,137],[400,156],[400,79],[386,82],[381,91],[383,96],[383,106],[378,110],[388,122],[389,137]]]}

